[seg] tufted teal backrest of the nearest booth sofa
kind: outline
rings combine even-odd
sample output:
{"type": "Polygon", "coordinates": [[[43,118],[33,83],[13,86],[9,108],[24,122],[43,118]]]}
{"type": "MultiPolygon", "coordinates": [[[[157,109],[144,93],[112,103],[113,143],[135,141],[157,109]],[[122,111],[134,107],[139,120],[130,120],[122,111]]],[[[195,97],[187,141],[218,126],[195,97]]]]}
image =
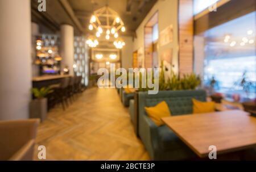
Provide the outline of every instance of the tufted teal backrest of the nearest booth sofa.
{"type": "Polygon", "coordinates": [[[205,102],[206,93],[204,90],[159,91],[155,95],[140,92],[139,115],[146,114],[144,107],[156,106],[162,101],[166,101],[172,115],[192,114],[192,98],[205,102]]]}

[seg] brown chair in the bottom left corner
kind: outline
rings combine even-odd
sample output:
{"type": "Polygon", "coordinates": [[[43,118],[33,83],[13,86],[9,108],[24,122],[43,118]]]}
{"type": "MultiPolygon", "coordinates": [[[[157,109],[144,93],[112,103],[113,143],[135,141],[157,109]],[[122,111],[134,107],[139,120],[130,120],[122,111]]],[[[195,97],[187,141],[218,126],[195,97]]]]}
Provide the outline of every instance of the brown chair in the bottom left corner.
{"type": "Polygon", "coordinates": [[[0,160],[31,161],[39,119],[0,121],[0,160]]]}

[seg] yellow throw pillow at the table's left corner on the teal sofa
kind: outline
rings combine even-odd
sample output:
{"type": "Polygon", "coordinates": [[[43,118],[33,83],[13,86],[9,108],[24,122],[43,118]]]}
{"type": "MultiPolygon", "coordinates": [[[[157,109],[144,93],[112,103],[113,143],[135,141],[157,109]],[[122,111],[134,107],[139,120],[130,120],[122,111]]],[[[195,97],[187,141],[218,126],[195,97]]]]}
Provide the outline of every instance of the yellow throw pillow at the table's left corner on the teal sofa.
{"type": "Polygon", "coordinates": [[[147,115],[159,127],[163,125],[161,118],[171,116],[169,107],[165,101],[156,104],[154,107],[145,107],[147,115]]]}

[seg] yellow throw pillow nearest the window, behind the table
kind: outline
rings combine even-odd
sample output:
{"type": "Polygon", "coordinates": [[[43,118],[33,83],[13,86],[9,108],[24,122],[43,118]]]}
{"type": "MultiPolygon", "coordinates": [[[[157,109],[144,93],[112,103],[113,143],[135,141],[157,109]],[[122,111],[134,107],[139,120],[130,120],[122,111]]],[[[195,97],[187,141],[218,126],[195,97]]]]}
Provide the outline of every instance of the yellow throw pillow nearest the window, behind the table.
{"type": "Polygon", "coordinates": [[[196,99],[192,99],[193,102],[193,114],[201,114],[215,111],[214,102],[201,102],[196,99]]]}

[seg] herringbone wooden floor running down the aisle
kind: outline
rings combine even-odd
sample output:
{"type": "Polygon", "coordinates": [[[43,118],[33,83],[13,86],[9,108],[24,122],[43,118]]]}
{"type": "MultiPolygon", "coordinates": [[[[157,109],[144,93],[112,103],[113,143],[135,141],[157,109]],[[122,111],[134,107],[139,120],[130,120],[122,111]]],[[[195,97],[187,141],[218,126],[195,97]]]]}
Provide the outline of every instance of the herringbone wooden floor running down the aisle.
{"type": "Polygon", "coordinates": [[[38,129],[35,160],[38,145],[46,146],[46,160],[149,160],[115,89],[88,89],[67,110],[51,110],[38,129]]]}

